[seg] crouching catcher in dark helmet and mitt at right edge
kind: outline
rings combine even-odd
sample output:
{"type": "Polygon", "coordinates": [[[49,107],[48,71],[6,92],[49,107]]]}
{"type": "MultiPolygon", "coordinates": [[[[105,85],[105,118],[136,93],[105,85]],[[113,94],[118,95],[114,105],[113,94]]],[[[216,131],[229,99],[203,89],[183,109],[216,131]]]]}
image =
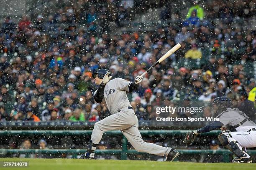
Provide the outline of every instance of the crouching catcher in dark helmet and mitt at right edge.
{"type": "Polygon", "coordinates": [[[231,107],[230,98],[225,96],[215,98],[212,101],[212,114],[218,117],[219,121],[192,130],[186,134],[184,142],[186,145],[191,145],[198,134],[221,128],[221,133],[218,135],[220,143],[236,155],[232,163],[251,163],[250,155],[242,148],[256,147],[256,124],[244,112],[231,107]]]}

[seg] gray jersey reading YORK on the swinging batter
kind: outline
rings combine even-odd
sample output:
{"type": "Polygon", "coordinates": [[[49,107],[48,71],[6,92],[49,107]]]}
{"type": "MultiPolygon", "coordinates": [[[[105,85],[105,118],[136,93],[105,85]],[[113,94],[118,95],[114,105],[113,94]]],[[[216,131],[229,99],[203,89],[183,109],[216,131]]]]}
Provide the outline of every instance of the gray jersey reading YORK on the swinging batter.
{"type": "Polygon", "coordinates": [[[104,88],[104,100],[112,115],[124,107],[131,106],[126,95],[130,84],[131,82],[122,78],[115,78],[106,84],[104,88]]]}

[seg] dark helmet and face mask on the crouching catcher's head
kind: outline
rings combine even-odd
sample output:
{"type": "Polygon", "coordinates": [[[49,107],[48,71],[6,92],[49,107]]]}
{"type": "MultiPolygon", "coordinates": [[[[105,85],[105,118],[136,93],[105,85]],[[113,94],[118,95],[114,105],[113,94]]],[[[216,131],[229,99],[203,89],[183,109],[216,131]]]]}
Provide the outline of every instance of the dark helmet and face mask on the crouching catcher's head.
{"type": "Polygon", "coordinates": [[[230,98],[228,98],[227,96],[217,97],[212,101],[211,104],[212,104],[212,115],[214,117],[218,116],[221,112],[223,112],[227,108],[232,107],[232,102],[230,98]]]}

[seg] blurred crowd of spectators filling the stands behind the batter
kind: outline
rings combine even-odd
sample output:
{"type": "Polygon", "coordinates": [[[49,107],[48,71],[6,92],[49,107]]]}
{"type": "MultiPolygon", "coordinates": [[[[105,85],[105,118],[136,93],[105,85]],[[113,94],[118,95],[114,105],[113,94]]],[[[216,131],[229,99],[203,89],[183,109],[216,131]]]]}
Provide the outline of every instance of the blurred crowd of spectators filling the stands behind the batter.
{"type": "Polygon", "coordinates": [[[92,72],[107,68],[113,78],[134,81],[177,43],[180,50],[128,93],[139,120],[154,120],[159,105],[223,95],[255,119],[256,31],[249,23],[230,24],[252,16],[250,1],[215,1],[189,10],[182,25],[120,36],[106,31],[108,21],[128,21],[133,7],[108,3],[95,10],[79,0],[55,15],[38,13],[33,20],[24,16],[19,23],[11,18],[0,23],[0,121],[101,120],[110,113],[104,103],[94,101],[92,72]],[[219,18],[218,23],[212,18],[219,18]]]}

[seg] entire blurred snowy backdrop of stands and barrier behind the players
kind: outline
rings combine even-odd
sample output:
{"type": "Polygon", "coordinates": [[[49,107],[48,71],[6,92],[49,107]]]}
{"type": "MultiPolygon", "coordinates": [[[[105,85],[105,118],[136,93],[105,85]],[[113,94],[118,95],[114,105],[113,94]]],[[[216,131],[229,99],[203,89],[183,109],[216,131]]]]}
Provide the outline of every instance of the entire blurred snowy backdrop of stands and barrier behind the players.
{"type": "MultiPolygon", "coordinates": [[[[177,43],[182,47],[154,67],[136,92],[127,94],[145,141],[183,150],[180,161],[225,162],[233,155],[220,145],[217,132],[202,136],[189,148],[182,142],[186,130],[206,122],[156,122],[156,107],[196,103],[205,117],[211,115],[210,101],[227,95],[234,107],[256,119],[252,0],[2,0],[1,4],[0,157],[76,158],[78,152],[72,149],[85,149],[94,123],[110,115],[104,103],[93,99],[97,86],[92,72],[107,68],[113,78],[134,81],[177,43]],[[212,154],[212,150],[219,151],[212,154]]],[[[129,153],[133,148],[116,131],[114,137],[111,133],[103,137],[99,149],[106,152],[97,159],[161,159],[129,153]]],[[[253,148],[251,152],[256,154],[253,148]]]]}

